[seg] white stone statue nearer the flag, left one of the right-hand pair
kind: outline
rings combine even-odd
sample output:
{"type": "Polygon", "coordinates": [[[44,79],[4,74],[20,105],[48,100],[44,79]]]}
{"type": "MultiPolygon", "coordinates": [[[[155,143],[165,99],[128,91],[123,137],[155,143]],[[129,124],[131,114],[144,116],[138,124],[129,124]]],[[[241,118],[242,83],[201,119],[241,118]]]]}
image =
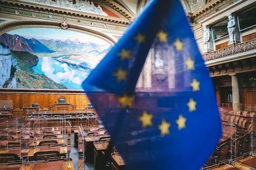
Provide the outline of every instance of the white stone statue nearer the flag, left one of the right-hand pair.
{"type": "Polygon", "coordinates": [[[208,26],[203,28],[203,40],[204,40],[204,50],[203,53],[209,53],[214,51],[214,40],[211,36],[211,31],[208,26]]]}

